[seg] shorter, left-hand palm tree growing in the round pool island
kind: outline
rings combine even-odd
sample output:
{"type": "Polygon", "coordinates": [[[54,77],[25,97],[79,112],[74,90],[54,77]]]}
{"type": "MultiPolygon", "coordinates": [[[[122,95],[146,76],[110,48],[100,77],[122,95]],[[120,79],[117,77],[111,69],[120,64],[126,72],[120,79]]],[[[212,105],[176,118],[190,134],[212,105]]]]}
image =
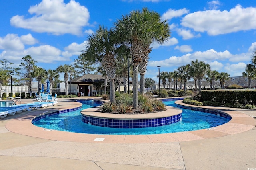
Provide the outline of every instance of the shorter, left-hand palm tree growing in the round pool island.
{"type": "Polygon", "coordinates": [[[116,58],[126,52],[126,46],[118,44],[119,40],[113,34],[113,30],[100,26],[95,35],[89,35],[86,50],[81,56],[94,64],[100,63],[106,71],[110,81],[110,102],[115,104],[116,58]]]}

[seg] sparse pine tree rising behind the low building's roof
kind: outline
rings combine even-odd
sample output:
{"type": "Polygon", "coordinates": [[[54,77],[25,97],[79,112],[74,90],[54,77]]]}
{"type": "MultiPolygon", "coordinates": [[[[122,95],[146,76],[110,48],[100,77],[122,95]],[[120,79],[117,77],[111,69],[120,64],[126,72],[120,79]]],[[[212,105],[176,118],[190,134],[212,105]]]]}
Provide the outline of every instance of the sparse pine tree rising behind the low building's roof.
{"type": "Polygon", "coordinates": [[[83,76],[85,74],[90,74],[90,72],[94,71],[96,67],[93,67],[92,65],[93,65],[92,62],[86,61],[84,57],[79,55],[78,59],[75,59],[75,63],[74,63],[74,68],[76,68],[77,77],[83,76]]]}

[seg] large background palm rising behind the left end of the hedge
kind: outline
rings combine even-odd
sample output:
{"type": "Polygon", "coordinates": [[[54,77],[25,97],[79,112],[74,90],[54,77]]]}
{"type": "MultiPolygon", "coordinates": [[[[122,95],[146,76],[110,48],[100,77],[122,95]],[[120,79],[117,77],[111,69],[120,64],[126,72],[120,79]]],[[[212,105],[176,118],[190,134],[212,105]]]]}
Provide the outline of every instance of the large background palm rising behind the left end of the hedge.
{"type": "Polygon", "coordinates": [[[209,64],[206,64],[203,61],[198,62],[198,59],[196,59],[196,61],[191,61],[190,74],[194,78],[195,82],[196,80],[198,80],[199,96],[202,90],[202,79],[204,78],[204,76],[207,74],[209,70],[210,70],[209,64]]]}

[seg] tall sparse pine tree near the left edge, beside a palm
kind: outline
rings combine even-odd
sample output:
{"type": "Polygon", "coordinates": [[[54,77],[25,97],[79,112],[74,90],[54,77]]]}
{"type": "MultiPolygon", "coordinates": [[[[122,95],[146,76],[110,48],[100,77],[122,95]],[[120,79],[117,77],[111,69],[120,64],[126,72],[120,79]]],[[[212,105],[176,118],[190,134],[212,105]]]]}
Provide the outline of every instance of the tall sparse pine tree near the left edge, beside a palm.
{"type": "Polygon", "coordinates": [[[30,55],[22,57],[22,62],[20,63],[20,68],[16,68],[17,76],[21,77],[21,81],[25,82],[28,86],[28,90],[32,91],[32,72],[36,66],[37,61],[35,61],[30,55]]]}

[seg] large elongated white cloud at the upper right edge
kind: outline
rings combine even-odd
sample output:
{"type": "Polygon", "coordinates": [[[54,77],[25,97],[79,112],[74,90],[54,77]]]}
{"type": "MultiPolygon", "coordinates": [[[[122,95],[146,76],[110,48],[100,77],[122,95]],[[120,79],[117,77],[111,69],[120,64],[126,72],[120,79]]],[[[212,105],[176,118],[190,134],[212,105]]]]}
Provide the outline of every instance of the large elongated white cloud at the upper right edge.
{"type": "Polygon", "coordinates": [[[242,8],[239,4],[229,12],[224,10],[198,11],[186,15],[181,22],[194,31],[219,35],[241,30],[256,29],[256,8],[242,8]]]}

